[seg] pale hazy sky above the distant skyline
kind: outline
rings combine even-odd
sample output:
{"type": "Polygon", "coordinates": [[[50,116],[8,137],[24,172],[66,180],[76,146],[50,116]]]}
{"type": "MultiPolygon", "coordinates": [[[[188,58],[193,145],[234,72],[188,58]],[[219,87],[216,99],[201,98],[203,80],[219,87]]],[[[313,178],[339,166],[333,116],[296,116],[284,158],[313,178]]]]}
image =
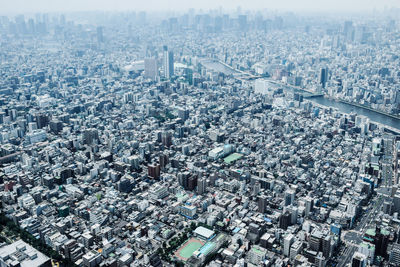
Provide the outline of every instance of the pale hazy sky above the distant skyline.
{"type": "Polygon", "coordinates": [[[91,10],[185,11],[196,9],[275,9],[292,11],[371,11],[400,8],[400,0],[0,0],[0,13],[91,10]]]}

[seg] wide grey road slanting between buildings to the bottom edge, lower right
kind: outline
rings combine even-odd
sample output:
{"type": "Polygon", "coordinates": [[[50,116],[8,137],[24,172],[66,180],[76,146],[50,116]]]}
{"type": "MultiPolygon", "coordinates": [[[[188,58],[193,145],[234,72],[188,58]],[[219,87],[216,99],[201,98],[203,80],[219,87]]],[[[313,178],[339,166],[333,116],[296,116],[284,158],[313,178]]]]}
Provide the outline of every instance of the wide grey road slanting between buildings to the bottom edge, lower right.
{"type": "MultiPolygon", "coordinates": [[[[367,226],[371,225],[371,222],[375,219],[376,213],[381,210],[383,200],[384,198],[382,195],[378,196],[378,199],[375,201],[372,209],[369,212],[363,214],[361,221],[354,228],[354,231],[351,231],[351,233],[353,234],[348,235],[347,236],[348,240],[344,240],[345,242],[354,239],[362,240],[362,237],[364,236],[367,226]],[[355,237],[354,234],[356,234],[357,236],[355,237]]],[[[346,239],[346,234],[344,236],[345,236],[344,239],[346,239]]],[[[350,263],[351,258],[353,257],[354,252],[356,252],[357,249],[358,249],[357,245],[353,245],[352,243],[346,242],[346,249],[344,250],[342,256],[340,256],[337,266],[344,267],[346,266],[346,264],[350,263]]]]}

